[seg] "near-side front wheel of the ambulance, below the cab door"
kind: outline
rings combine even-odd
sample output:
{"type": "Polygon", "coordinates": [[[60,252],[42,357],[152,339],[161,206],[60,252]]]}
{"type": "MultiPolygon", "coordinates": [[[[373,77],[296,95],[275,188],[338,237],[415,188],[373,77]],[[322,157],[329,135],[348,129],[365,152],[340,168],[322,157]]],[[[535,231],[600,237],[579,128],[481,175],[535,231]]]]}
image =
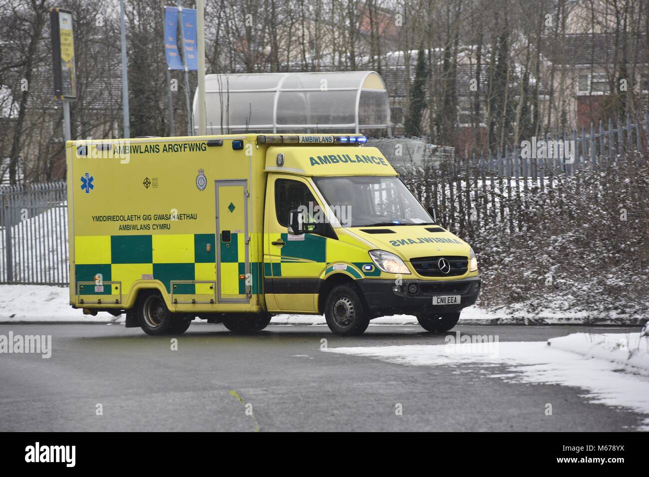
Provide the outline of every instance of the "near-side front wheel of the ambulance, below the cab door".
{"type": "Polygon", "coordinates": [[[335,286],[326,298],[324,318],[332,333],[358,336],[369,326],[369,313],[356,289],[349,285],[335,286]]]}

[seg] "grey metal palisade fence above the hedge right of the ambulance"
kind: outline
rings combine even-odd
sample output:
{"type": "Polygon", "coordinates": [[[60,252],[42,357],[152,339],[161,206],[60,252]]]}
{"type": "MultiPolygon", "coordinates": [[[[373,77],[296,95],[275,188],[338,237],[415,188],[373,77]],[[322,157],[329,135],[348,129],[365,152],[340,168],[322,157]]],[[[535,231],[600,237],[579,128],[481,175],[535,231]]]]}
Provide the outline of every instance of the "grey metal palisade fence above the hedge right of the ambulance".
{"type": "MultiPolygon", "coordinates": [[[[496,223],[506,224],[510,232],[522,230],[530,225],[524,222],[524,212],[539,206],[539,193],[544,207],[554,200],[569,206],[579,197],[557,197],[557,186],[568,180],[580,184],[584,175],[591,175],[591,186],[606,188],[610,186],[607,174],[618,161],[626,164],[636,157],[638,164],[646,164],[649,115],[636,123],[627,117],[626,125],[613,127],[609,122],[608,127],[600,123],[598,132],[594,125],[590,129],[590,134],[582,129],[581,133],[538,138],[546,143],[572,141],[571,158],[524,156],[518,145],[506,146],[495,153],[455,156],[439,165],[413,165],[401,177],[419,201],[434,206],[443,225],[461,236],[471,237],[475,230],[496,223]]],[[[624,180],[635,180],[633,169],[624,169],[624,173],[628,173],[624,180]]]]}

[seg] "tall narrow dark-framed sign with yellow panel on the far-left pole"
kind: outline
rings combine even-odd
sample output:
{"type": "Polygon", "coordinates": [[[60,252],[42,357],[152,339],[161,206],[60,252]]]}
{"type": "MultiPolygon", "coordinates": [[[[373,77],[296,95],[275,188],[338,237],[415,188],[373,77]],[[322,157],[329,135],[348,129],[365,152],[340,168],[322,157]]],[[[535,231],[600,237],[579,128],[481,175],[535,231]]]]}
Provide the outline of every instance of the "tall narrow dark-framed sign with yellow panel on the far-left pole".
{"type": "Polygon", "coordinates": [[[77,67],[72,12],[49,9],[52,41],[52,69],[56,99],[77,99],[77,67]]]}

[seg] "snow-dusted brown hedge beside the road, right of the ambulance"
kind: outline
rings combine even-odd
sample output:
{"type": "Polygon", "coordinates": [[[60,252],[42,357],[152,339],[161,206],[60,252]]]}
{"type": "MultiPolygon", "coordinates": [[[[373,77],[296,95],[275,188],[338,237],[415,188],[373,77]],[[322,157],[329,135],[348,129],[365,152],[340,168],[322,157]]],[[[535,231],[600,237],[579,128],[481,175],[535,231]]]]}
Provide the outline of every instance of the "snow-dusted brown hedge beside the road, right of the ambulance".
{"type": "MultiPolygon", "coordinates": [[[[520,194],[478,186],[477,203],[490,205],[487,220],[472,219],[471,208],[466,202],[462,207],[455,194],[455,210],[465,214],[464,220],[446,225],[478,255],[484,284],[480,304],[532,315],[581,311],[594,323],[648,317],[648,156],[628,153],[596,171],[553,179],[543,191],[533,184],[520,194]]],[[[424,191],[420,198],[429,202],[425,191],[431,184],[416,180],[415,189],[424,191]]]]}

